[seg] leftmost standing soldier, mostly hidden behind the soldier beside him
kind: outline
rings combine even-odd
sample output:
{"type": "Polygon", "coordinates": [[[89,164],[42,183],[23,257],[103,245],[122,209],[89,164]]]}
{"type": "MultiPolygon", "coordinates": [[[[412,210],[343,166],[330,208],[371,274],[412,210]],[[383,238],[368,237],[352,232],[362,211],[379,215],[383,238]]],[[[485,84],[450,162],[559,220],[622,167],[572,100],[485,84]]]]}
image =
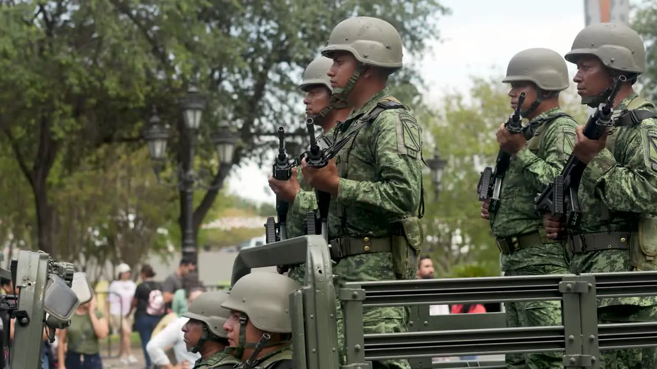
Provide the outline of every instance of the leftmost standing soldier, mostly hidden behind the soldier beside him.
{"type": "MultiPolygon", "coordinates": [[[[304,79],[299,85],[301,91],[306,93],[304,104],[306,104],[306,116],[313,118],[316,125],[322,127],[323,135],[330,135],[333,127],[338,121],[343,121],[349,115],[349,108],[342,106],[336,100],[331,100],[330,79],[327,76],[328,68],[333,60],[325,56],[319,56],[308,64],[304,71],[304,79]]],[[[301,178],[301,171],[292,169],[290,181],[278,181],[269,176],[269,187],[276,196],[290,203],[288,209],[287,235],[288,238],[303,236],[306,214],[317,208],[315,191],[301,178]],[[302,183],[303,186],[300,185],[302,183]],[[304,206],[300,206],[304,204],[304,206]]],[[[279,267],[279,272],[284,272],[285,267],[279,267]]],[[[300,284],[304,283],[303,265],[295,265],[290,268],[288,276],[300,284]]]]}

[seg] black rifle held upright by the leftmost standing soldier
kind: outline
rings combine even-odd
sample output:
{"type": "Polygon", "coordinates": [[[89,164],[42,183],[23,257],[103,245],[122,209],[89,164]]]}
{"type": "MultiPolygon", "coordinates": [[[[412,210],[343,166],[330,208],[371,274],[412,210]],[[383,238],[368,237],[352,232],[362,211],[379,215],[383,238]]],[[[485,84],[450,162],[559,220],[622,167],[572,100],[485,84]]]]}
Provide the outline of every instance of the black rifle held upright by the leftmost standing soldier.
{"type": "MultiPolygon", "coordinates": [[[[285,150],[284,127],[279,127],[279,154],[274,160],[272,172],[273,177],[278,181],[290,181],[292,176],[290,156],[285,150]]],[[[287,239],[287,212],[289,206],[288,202],[276,196],[276,214],[279,221],[276,223],[274,217],[267,218],[267,223],[265,223],[265,242],[267,244],[287,239]]]]}

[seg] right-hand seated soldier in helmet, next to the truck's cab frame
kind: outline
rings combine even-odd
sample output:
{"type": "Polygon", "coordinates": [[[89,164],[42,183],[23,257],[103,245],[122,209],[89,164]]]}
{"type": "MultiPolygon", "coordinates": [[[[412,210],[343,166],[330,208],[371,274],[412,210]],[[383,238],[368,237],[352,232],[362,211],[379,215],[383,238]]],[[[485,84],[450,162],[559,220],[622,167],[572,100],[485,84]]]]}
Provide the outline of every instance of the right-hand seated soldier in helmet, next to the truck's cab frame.
{"type": "Polygon", "coordinates": [[[292,369],[290,293],[301,286],[275,273],[246,274],[235,282],[221,307],[231,311],[223,324],[229,351],[239,368],[292,369]]]}

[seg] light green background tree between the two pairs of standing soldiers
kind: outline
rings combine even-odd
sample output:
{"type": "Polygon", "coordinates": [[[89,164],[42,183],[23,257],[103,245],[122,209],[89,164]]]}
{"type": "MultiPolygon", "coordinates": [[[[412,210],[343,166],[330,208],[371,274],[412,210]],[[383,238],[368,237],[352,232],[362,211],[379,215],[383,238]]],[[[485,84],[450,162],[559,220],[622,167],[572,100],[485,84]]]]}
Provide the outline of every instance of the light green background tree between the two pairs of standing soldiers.
{"type": "MultiPolygon", "coordinates": [[[[463,93],[450,93],[439,110],[420,118],[428,127],[427,141],[437,144],[447,158],[437,201],[429,197],[431,186],[424,186],[424,247],[432,254],[440,276],[465,269],[499,275],[499,251],[489,224],[479,216],[481,204],[476,198],[480,171],[495,165],[499,151],[495,132],[510,114],[509,87],[499,81],[500,77],[474,77],[467,94],[469,102],[463,93]]],[[[578,100],[572,88],[562,93],[564,110],[584,123],[585,108],[578,100]]],[[[424,158],[432,157],[432,144],[425,146],[424,158]]],[[[431,183],[428,177],[425,183],[431,183]]]]}

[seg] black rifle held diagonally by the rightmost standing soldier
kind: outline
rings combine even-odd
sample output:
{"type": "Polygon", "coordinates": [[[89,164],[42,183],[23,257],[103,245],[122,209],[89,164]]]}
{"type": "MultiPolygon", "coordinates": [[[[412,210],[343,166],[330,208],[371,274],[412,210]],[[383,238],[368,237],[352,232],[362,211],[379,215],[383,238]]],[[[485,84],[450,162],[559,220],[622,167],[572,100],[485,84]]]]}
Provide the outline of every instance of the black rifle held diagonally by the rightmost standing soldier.
{"type": "MultiPolygon", "coordinates": [[[[589,116],[589,120],[583,129],[583,135],[591,140],[597,140],[602,137],[605,129],[612,126],[612,114],[614,114],[614,100],[620,90],[622,81],[627,78],[620,76],[614,81],[611,93],[606,101],[598,106],[589,116]]],[[[581,210],[579,209],[578,190],[581,176],[586,168],[586,163],[580,162],[574,153],[570,154],[568,162],[562,169],[561,174],[557,175],[552,183],[547,185],[543,192],[535,198],[534,209],[537,213],[545,215],[547,213],[556,215],[556,217],[566,218],[565,227],[577,228],[581,219],[581,210]]]]}

